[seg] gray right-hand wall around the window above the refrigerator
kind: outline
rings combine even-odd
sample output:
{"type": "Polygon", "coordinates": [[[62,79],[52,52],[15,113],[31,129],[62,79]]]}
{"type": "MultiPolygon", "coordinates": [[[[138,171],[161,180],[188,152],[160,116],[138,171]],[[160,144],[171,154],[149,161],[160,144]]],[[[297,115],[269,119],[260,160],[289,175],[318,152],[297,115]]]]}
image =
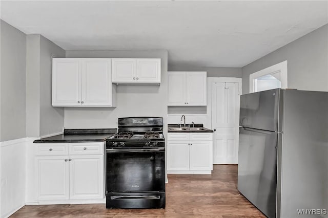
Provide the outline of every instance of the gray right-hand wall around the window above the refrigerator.
{"type": "Polygon", "coordinates": [[[328,25],[292,41],[242,68],[242,93],[249,93],[250,74],[288,62],[288,87],[328,91],[328,25]]]}

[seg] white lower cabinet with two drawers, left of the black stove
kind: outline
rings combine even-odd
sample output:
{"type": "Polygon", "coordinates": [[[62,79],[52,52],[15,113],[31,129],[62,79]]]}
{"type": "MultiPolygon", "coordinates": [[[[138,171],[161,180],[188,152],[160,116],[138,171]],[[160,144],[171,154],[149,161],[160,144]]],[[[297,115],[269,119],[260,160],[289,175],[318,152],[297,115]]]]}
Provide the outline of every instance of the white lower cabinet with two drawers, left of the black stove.
{"type": "Polygon", "coordinates": [[[36,150],[43,150],[41,156],[40,152],[35,156],[37,201],[40,204],[104,199],[103,142],[40,143],[36,150]],[[78,149],[81,146],[82,151],[78,149]],[[61,153],[58,154],[58,150],[62,150],[61,153]]]}

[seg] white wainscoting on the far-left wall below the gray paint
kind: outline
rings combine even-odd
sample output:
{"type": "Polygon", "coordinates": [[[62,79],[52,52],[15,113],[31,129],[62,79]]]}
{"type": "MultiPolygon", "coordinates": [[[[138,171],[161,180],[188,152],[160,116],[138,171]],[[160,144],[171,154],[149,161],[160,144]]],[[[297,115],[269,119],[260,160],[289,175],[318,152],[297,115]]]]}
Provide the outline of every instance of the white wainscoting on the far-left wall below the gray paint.
{"type": "Polygon", "coordinates": [[[26,138],[0,142],[1,217],[25,205],[26,138]]]}

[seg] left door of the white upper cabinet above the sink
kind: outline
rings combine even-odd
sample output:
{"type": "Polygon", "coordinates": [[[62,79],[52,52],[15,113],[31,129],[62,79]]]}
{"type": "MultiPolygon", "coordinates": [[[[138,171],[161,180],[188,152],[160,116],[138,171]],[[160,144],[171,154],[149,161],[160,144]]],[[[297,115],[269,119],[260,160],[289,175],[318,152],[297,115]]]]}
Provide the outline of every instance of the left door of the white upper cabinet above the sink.
{"type": "Polygon", "coordinates": [[[168,72],[169,106],[186,106],[186,72],[168,72]]]}

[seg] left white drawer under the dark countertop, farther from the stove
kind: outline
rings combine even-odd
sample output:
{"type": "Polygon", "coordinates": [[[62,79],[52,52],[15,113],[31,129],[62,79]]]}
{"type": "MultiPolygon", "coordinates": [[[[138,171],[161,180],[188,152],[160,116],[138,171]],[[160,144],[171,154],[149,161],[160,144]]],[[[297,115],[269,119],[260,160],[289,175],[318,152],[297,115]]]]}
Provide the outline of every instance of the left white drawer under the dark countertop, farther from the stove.
{"type": "Polygon", "coordinates": [[[36,155],[38,156],[54,156],[68,155],[67,143],[39,143],[36,145],[36,155]]]}

